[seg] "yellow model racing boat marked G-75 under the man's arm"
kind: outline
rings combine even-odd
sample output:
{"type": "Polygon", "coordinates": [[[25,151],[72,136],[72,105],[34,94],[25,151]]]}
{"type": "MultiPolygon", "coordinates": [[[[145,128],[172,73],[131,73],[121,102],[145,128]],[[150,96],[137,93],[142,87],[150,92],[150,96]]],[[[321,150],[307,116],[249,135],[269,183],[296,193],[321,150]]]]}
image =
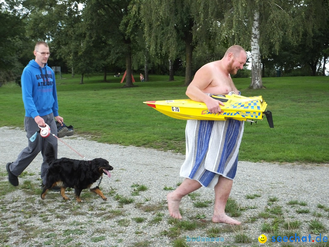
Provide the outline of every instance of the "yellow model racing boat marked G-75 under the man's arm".
{"type": "Polygon", "coordinates": [[[176,119],[195,120],[226,120],[228,118],[257,123],[266,115],[267,122],[273,126],[272,113],[266,110],[267,103],[262,96],[245,97],[241,95],[213,95],[211,96],[224,103],[220,113],[210,113],[203,102],[191,99],[173,99],[145,101],[143,103],[157,111],[176,119]]]}

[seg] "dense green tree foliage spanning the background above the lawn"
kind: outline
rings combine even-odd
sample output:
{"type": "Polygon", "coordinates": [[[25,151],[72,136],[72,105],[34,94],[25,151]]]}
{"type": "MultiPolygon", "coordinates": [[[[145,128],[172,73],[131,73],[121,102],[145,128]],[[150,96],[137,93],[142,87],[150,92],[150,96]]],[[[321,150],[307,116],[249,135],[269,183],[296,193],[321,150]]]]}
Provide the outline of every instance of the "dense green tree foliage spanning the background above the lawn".
{"type": "MultiPolygon", "coordinates": [[[[187,85],[233,44],[253,53],[251,86],[262,86],[262,66],[320,75],[329,56],[328,2],[6,0],[0,8],[0,84],[20,77],[39,40],[50,45],[49,63],[62,61],[82,75],[104,71],[104,80],[107,69],[122,73],[124,67],[128,74],[144,67],[145,79],[148,71],[170,68],[173,78],[179,64],[187,85]]],[[[127,76],[125,86],[132,85],[127,76]]]]}

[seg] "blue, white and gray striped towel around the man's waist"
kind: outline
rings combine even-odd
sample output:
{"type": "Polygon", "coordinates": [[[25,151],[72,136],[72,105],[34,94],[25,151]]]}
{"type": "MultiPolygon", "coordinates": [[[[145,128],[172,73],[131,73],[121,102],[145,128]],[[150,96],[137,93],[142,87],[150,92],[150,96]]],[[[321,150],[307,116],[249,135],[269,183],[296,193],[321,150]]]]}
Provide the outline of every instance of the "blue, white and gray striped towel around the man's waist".
{"type": "Polygon", "coordinates": [[[232,179],[238,166],[238,153],[244,122],[188,120],[186,124],[186,159],[180,176],[194,179],[204,187],[214,188],[219,175],[232,179]]]}

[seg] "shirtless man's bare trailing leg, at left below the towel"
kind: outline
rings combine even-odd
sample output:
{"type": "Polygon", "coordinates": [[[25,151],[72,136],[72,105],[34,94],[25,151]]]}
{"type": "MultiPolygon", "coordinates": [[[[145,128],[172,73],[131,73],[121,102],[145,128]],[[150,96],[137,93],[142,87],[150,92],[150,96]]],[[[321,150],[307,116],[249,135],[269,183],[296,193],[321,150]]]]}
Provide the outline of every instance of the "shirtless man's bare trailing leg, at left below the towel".
{"type": "Polygon", "coordinates": [[[179,212],[179,203],[187,194],[199,189],[202,185],[193,179],[185,178],[185,180],[173,192],[167,194],[168,210],[171,217],[182,219],[179,212]]]}

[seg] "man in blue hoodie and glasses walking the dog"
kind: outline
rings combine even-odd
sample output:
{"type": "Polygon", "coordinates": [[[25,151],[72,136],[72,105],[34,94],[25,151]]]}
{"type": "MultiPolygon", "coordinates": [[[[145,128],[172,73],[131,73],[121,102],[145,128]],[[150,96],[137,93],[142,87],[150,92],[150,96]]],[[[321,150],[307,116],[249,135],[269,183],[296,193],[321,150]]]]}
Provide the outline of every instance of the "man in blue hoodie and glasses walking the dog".
{"type": "MultiPolygon", "coordinates": [[[[35,45],[33,54],[35,59],[31,60],[24,68],[21,76],[22,98],[25,108],[24,128],[27,132],[28,146],[23,149],[14,162],[7,164],[9,182],[13,186],[18,185],[18,176],[33,161],[41,151],[44,154],[47,145],[55,148],[57,158],[57,138],[49,135],[43,138],[39,134],[40,128],[49,125],[52,134],[57,135],[55,119],[62,124],[63,118],[58,115],[58,102],[55,83],[55,73],[47,66],[50,56],[48,44],[39,41],[35,45]]],[[[46,180],[48,163],[41,164],[41,179],[43,184],[46,180]]]]}

